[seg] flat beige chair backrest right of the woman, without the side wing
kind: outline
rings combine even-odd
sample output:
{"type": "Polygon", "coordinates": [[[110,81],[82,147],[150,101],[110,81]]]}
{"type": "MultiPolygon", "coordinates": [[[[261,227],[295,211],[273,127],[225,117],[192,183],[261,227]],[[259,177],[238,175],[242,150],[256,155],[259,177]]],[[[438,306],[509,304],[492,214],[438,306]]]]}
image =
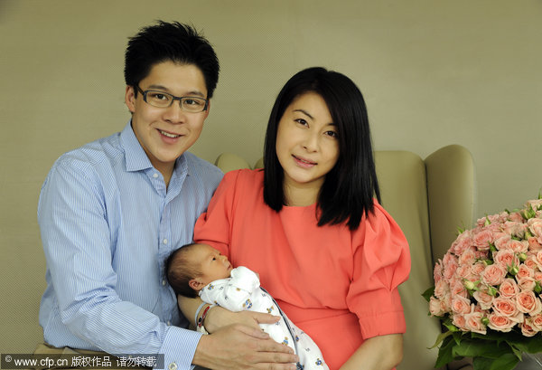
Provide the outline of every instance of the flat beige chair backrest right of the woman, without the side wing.
{"type": "Polygon", "coordinates": [[[410,276],[399,286],[406,334],[403,361],[397,369],[433,369],[437,353],[427,348],[441,328],[438,319],[427,316],[429,308],[421,296],[433,284],[425,164],[406,151],[377,151],[375,162],[382,205],[405,233],[412,260],[410,276]]]}

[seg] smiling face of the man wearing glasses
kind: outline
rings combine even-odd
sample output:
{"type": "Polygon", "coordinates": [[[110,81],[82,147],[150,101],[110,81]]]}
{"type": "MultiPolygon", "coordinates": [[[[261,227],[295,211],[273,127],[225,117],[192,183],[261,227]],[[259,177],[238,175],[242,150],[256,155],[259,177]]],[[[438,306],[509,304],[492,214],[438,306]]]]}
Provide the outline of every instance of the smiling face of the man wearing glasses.
{"type": "MultiPolygon", "coordinates": [[[[139,87],[177,97],[207,98],[203,74],[193,64],[171,61],[154,64],[139,87]]],[[[132,86],[126,87],[126,106],[132,112],[135,137],[164,177],[171,176],[175,160],[200,137],[203,121],[209,115],[209,106],[199,113],[186,112],[181,109],[179,100],[174,100],[168,108],[153,107],[143,100],[142,93],[135,97],[132,86]]]]}

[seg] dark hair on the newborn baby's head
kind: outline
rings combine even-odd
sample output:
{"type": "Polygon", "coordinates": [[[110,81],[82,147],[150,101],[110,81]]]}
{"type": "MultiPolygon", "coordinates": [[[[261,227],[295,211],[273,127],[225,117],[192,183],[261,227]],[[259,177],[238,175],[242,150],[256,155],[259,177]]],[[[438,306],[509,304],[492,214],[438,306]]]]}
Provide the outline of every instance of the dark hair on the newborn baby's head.
{"type": "Polygon", "coordinates": [[[189,282],[201,275],[200,266],[194,266],[188,260],[188,252],[193,249],[194,245],[197,245],[197,243],[192,242],[183,245],[178,250],[173,251],[165,262],[167,280],[173,290],[175,293],[188,298],[198,297],[198,291],[192,289],[189,282]]]}

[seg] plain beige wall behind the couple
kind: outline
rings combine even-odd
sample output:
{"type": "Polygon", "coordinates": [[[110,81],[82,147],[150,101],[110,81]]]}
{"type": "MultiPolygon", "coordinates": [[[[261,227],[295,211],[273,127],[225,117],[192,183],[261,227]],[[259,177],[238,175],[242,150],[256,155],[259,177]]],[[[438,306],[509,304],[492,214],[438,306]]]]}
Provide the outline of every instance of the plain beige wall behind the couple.
{"type": "MultiPolygon", "coordinates": [[[[192,22],[219,54],[192,150],[205,159],[232,151],[254,162],[280,87],[322,65],[364,92],[377,149],[469,148],[478,215],[542,186],[540,0],[1,0],[0,267],[41,251],[36,204],[53,161],[126,124],[126,38],[156,19],[192,22]]],[[[23,287],[25,274],[5,279],[23,287]]]]}

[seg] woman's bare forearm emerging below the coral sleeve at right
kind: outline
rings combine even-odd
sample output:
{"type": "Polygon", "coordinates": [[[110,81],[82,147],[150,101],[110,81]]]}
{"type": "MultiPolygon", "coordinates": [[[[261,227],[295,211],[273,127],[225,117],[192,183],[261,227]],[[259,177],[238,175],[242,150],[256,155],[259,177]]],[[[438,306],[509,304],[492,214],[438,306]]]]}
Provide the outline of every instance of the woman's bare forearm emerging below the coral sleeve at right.
{"type": "Polygon", "coordinates": [[[371,337],[354,352],[341,370],[390,370],[403,359],[403,335],[371,337]]]}

